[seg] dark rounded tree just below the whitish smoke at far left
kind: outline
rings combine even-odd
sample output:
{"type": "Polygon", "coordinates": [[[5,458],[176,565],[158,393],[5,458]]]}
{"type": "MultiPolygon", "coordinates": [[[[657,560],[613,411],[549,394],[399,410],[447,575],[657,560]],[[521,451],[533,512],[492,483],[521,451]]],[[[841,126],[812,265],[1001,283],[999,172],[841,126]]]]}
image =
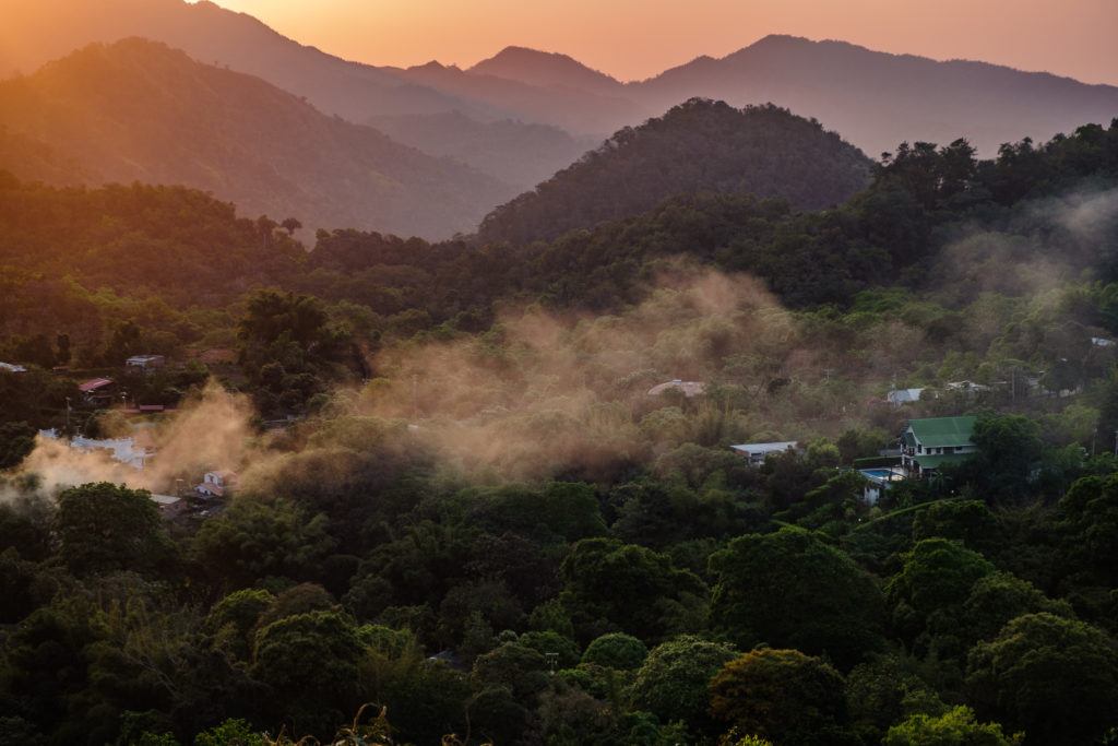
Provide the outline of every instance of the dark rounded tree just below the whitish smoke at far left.
{"type": "Polygon", "coordinates": [[[122,569],[152,574],[174,557],[146,490],[107,482],[70,488],[58,495],[55,531],[59,555],[77,576],[122,569]]]}

